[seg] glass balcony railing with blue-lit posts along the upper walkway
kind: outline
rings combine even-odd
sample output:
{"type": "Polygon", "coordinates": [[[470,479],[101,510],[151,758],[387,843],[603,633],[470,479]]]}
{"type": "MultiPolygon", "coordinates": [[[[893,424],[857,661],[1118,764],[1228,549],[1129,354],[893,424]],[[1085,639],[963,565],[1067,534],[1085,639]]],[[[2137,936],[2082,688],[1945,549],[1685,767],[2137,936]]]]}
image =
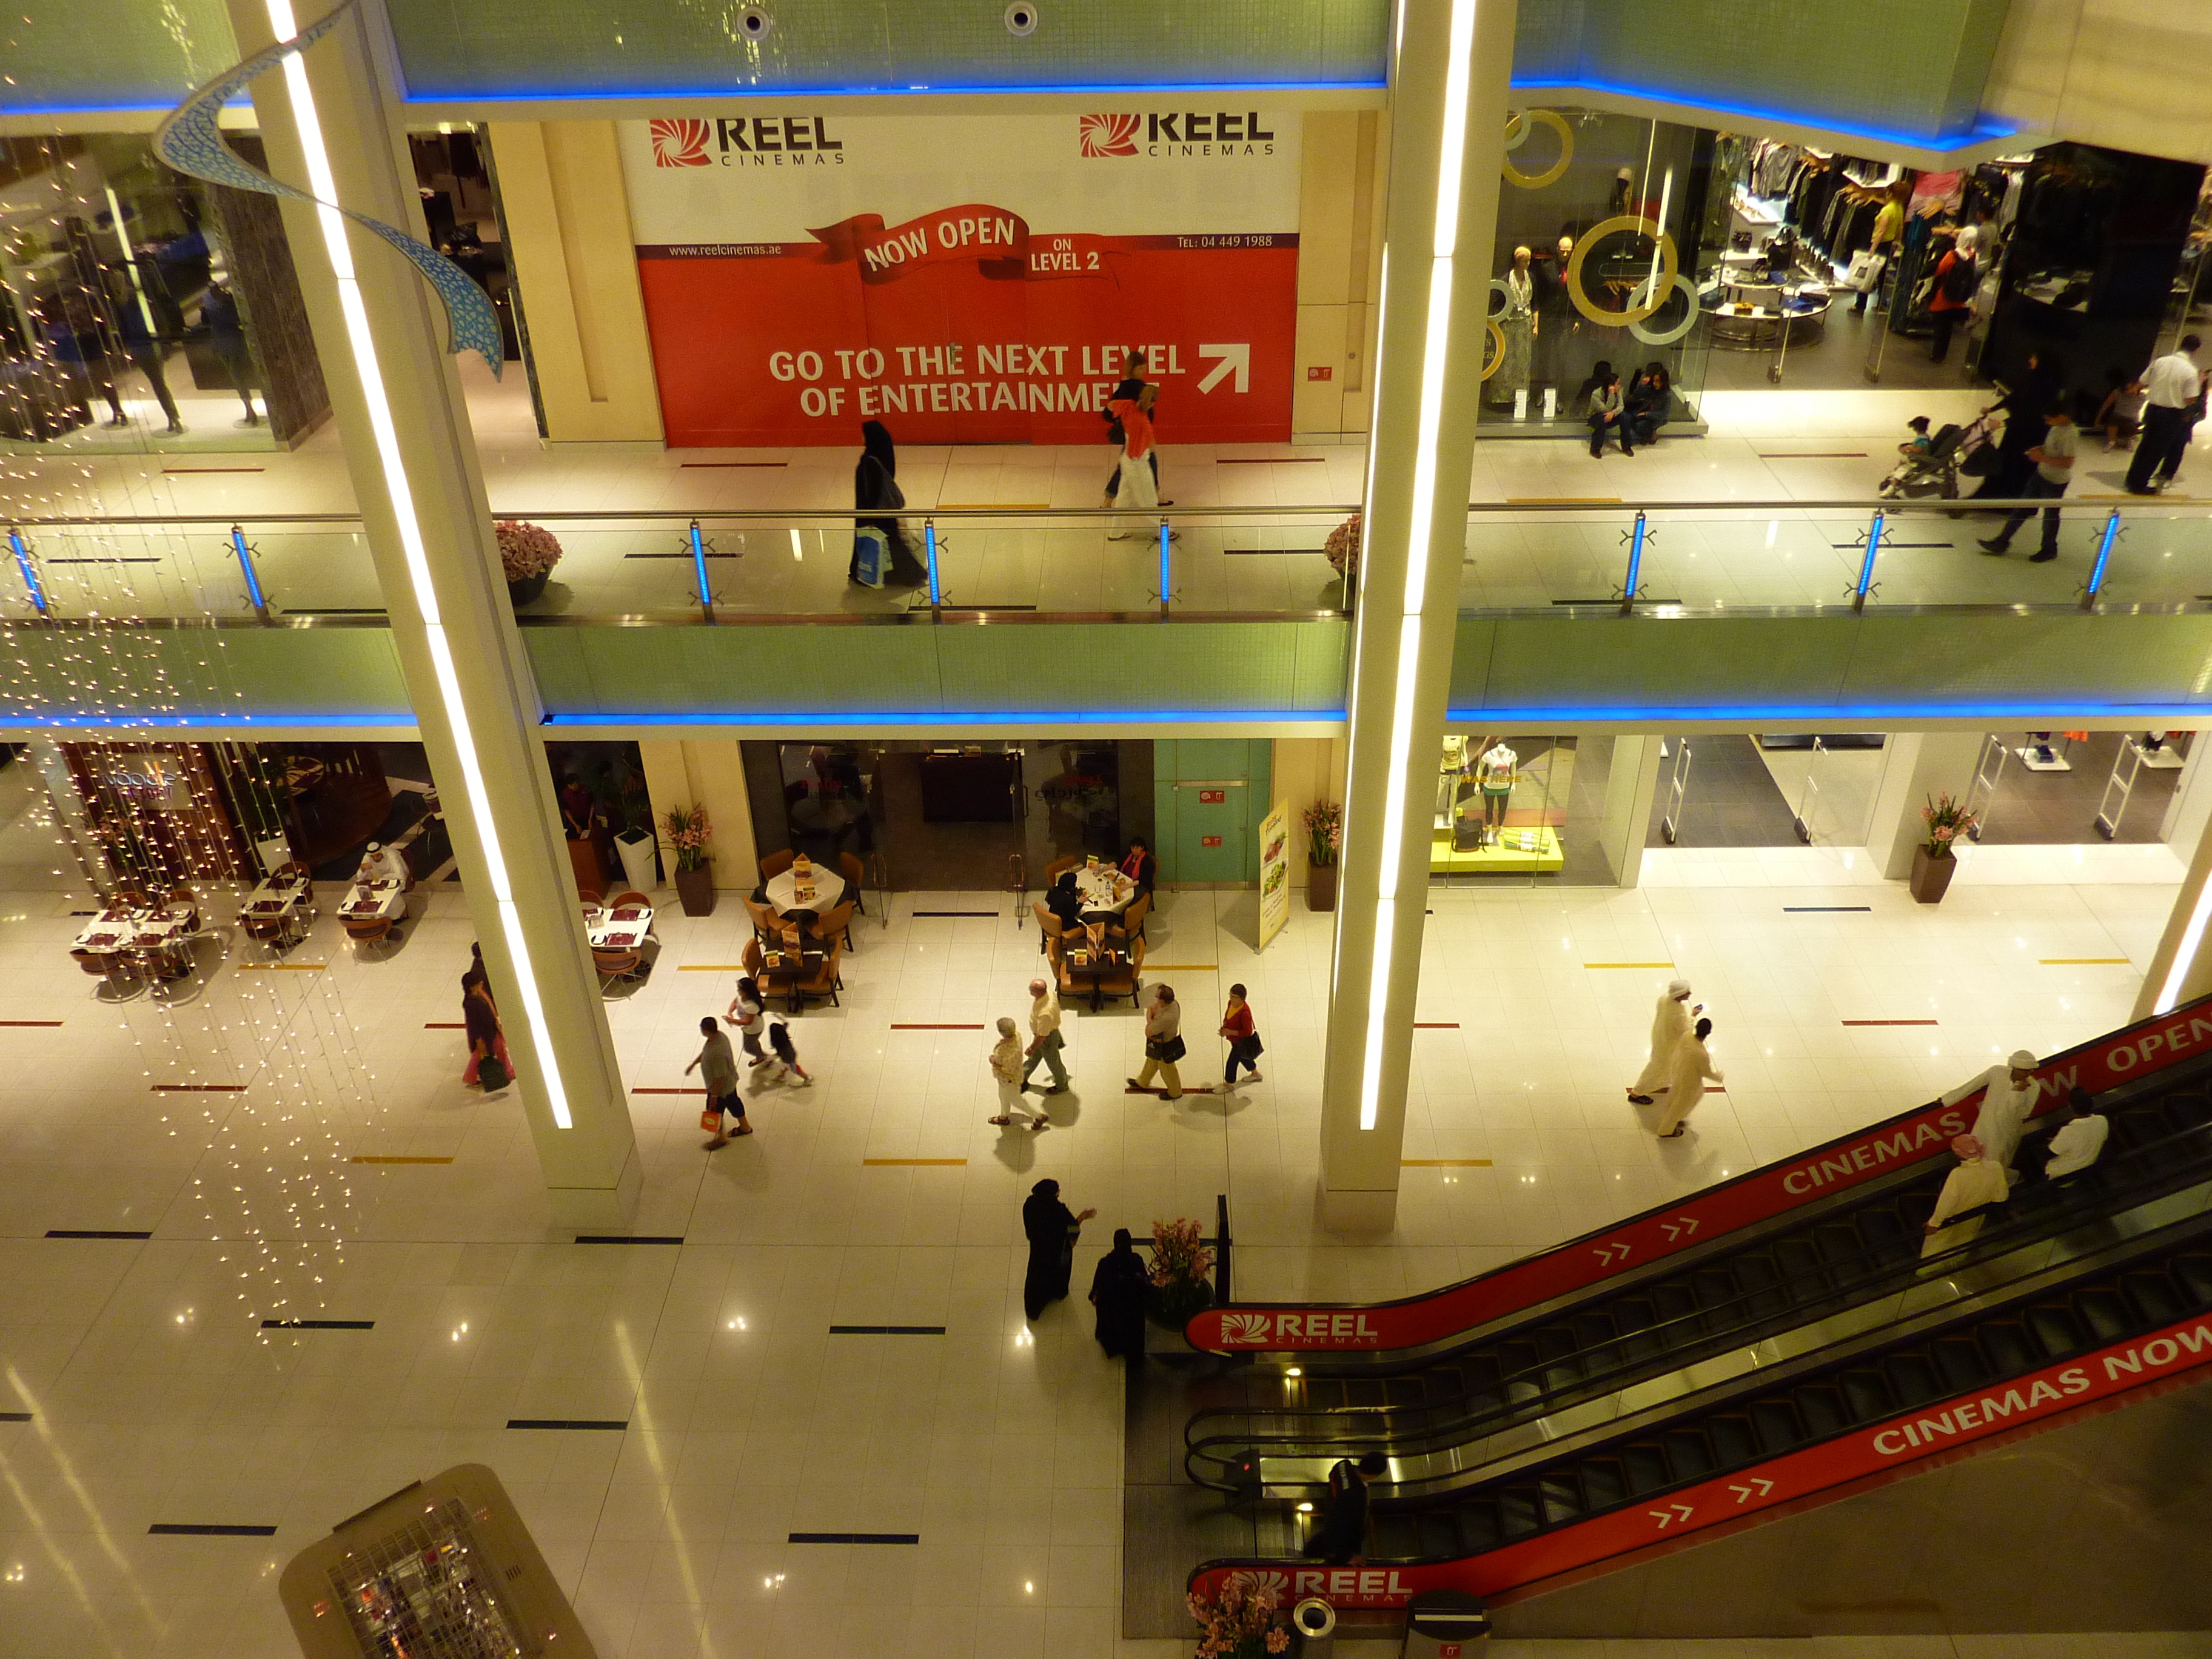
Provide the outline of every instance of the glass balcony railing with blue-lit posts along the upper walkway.
{"type": "MultiPolygon", "coordinates": [[[[1478,504],[1460,608],[1637,613],[1891,606],[2212,604],[2212,502],[2084,495],[2033,562],[2046,502],[1478,504]]],[[[526,626],[1327,617],[1347,608],[1325,544],[1349,507],[905,513],[916,580],[847,580],[854,513],[529,513],[562,542],[526,626]]],[[[374,624],[361,522],[0,520],[0,617],[374,624]]]]}

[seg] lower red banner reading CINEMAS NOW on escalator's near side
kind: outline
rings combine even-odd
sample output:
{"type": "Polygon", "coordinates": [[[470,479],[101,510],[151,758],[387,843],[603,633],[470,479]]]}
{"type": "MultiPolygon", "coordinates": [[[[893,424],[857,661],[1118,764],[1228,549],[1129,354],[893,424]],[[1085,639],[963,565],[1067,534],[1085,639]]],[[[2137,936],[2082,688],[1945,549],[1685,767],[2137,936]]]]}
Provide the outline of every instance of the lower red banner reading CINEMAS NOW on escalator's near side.
{"type": "Polygon", "coordinates": [[[1579,1526],[1564,1526],[1482,1555],[1391,1568],[1208,1562],[1192,1573],[1190,1588],[1219,1590],[1223,1582],[1245,1573],[1261,1588],[1276,1590],[1279,1599],[1318,1595],[1334,1608],[1400,1608],[1422,1590],[1502,1595],[1597,1562],[1663,1548],[1708,1526],[1783,1504],[1803,1504],[1818,1493],[1834,1493],[1836,1486],[1885,1484],[1916,1473],[1916,1464],[1929,1458],[1993,1436],[2037,1433],[2081,1407],[2161,1387],[2205,1365],[2212,1365],[2212,1318],[2183,1318],[2150,1336],[2112,1343],[2077,1360],[2046,1365],[1986,1389],[1971,1389],[1732,1475],[1714,1475],[1697,1486],[1670,1491],[1652,1504],[1615,1509],[1579,1526]]]}

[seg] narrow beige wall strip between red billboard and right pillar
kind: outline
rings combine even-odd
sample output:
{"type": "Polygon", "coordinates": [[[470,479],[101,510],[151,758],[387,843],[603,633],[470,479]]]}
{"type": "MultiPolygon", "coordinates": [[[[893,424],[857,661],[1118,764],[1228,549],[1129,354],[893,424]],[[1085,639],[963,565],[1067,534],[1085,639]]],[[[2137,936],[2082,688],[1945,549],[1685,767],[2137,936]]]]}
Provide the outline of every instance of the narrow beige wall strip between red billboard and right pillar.
{"type": "Polygon", "coordinates": [[[1298,179],[1298,358],[1290,427],[1298,436],[1367,431],[1374,403],[1374,296],[1383,265],[1380,111],[1312,111],[1298,179]],[[1327,380],[1307,378],[1329,369],[1327,380]]]}

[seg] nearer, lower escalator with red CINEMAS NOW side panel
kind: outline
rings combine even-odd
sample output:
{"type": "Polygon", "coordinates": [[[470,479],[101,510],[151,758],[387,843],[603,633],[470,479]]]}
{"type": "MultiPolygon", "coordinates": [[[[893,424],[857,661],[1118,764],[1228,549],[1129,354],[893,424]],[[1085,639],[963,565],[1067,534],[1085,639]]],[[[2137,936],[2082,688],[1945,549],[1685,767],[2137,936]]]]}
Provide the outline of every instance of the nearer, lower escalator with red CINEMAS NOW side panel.
{"type": "MultiPolygon", "coordinates": [[[[1893,1203],[1854,1206],[1860,1223],[1887,1212],[1907,1225],[1902,1256],[1878,1237],[1887,1223],[1874,1228],[1874,1254],[1889,1263],[1880,1296],[1827,1303],[1794,1327],[1783,1316],[1774,1334],[1728,1349],[1734,1365],[1644,1371],[1613,1394],[1557,1387],[1548,1416],[1506,1431],[1489,1420],[1453,1429],[1442,1418],[1451,1407],[1427,1400],[1334,1407],[1352,1413],[1340,1427],[1371,1429],[1336,1455],[1391,1458],[1365,1564],[1301,1555],[1303,1517],[1283,1475],[1321,1478],[1316,1433],[1312,1460],[1283,1442],[1267,1480],[1281,1500],[1245,1493],[1256,1500],[1254,1555],[1208,1562],[1192,1586],[1259,1573],[1290,1599],[1338,1608],[1394,1608],[1433,1588],[1557,1599],[1562,1586],[1708,1535],[1794,1522],[1962,1453],[2212,1378],[2201,1369],[2212,1367],[2212,1062],[2115,1091],[2099,1108],[2112,1128],[2097,1166],[2022,1188],[1991,1208],[1971,1245],[1933,1263],[1913,1261],[1933,1203],[1922,1181],[1896,1183],[1893,1203]]],[[[1617,1327],[1588,1336],[1588,1354],[1628,1340],[1617,1327]]],[[[1526,1380],[1542,1389],[1548,1378],[1526,1380]]]]}

